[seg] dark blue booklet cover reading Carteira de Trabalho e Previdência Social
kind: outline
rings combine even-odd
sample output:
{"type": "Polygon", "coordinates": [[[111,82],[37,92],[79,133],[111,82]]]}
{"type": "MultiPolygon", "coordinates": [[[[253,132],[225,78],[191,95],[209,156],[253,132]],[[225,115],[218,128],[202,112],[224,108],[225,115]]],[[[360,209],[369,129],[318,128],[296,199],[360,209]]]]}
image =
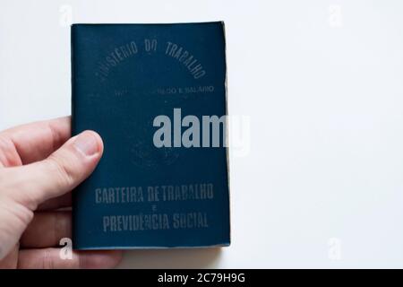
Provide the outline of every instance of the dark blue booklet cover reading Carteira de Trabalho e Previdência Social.
{"type": "Polygon", "coordinates": [[[72,26],[73,135],[105,146],[73,191],[74,248],[229,245],[227,148],[153,144],[159,115],[227,114],[224,37],[223,22],[72,26]]]}

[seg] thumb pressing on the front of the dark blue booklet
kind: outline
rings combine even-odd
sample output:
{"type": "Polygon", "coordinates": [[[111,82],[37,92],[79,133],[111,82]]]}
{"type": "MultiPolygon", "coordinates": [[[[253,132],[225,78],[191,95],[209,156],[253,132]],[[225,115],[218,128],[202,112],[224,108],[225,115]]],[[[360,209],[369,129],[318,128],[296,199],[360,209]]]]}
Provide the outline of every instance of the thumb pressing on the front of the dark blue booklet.
{"type": "Polygon", "coordinates": [[[100,136],[85,131],[69,139],[44,161],[4,169],[1,185],[15,201],[33,211],[47,199],[64,195],[90,176],[102,152],[100,136]]]}

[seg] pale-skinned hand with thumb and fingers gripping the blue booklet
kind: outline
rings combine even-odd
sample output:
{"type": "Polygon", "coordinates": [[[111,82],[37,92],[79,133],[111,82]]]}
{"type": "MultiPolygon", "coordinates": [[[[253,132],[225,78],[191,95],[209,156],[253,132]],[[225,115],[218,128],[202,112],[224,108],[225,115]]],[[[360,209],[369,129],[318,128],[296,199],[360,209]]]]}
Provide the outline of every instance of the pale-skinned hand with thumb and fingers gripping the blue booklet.
{"type": "Polygon", "coordinates": [[[93,131],[71,137],[70,122],[60,117],[0,132],[0,268],[111,268],[121,260],[120,251],[59,256],[60,239],[72,238],[65,210],[71,191],[104,149],[93,131]]]}

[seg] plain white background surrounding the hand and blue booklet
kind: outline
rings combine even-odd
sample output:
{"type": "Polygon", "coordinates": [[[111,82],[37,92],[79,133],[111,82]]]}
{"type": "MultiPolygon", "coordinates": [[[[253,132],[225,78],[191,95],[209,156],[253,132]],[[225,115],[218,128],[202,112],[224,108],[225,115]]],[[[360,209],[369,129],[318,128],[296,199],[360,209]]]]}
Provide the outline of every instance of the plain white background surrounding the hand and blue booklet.
{"type": "Polygon", "coordinates": [[[232,245],[123,267],[403,267],[403,2],[0,2],[0,129],[70,114],[73,22],[227,30],[232,245]],[[246,149],[248,151],[248,149],[246,149]]]}

